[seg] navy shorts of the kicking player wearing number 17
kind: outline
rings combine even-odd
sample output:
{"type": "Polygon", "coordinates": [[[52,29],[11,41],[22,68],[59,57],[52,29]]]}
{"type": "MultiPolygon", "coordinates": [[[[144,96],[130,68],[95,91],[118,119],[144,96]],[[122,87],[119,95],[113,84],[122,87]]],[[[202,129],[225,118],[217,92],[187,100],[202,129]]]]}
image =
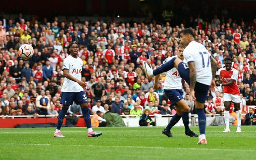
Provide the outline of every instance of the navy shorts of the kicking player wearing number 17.
{"type": "MultiPolygon", "coordinates": [[[[188,65],[184,62],[180,62],[180,64],[178,65],[178,71],[179,71],[180,77],[183,78],[189,84],[190,80],[189,80],[188,65]]],[[[196,101],[200,103],[205,103],[209,89],[210,89],[210,86],[196,82],[196,85],[195,85],[196,101]]]]}

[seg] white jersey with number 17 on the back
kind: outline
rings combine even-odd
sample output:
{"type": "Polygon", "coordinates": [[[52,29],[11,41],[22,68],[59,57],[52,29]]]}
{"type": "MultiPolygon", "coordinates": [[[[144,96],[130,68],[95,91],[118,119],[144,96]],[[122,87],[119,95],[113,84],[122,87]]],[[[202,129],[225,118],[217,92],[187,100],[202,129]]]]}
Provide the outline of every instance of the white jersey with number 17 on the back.
{"type": "Polygon", "coordinates": [[[192,41],[184,49],[183,55],[188,63],[195,62],[196,81],[210,86],[212,81],[211,54],[204,45],[192,41]]]}

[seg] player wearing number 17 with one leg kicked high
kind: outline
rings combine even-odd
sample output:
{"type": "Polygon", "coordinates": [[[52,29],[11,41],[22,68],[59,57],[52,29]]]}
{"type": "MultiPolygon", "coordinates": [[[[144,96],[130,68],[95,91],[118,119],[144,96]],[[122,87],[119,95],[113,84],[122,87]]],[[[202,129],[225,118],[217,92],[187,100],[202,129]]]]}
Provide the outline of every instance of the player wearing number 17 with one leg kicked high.
{"type": "Polygon", "coordinates": [[[178,69],[180,77],[189,83],[191,98],[193,97],[195,100],[200,131],[197,144],[207,144],[205,138],[206,116],[204,113],[204,102],[210,86],[211,89],[216,86],[214,77],[217,71],[217,62],[204,45],[194,40],[194,36],[194,32],[191,29],[180,31],[179,41],[181,45],[186,46],[183,55],[188,64],[179,58],[173,58],[155,70],[152,70],[145,61],[142,64],[143,71],[148,77],[154,77],[157,74],[167,72],[173,67],[178,69]]]}

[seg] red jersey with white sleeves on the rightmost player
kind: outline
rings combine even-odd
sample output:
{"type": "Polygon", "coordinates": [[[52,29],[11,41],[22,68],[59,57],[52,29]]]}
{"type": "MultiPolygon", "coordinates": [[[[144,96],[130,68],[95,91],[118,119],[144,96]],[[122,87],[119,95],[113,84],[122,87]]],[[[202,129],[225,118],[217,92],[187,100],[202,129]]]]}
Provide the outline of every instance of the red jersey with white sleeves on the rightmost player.
{"type": "Polygon", "coordinates": [[[226,68],[220,68],[216,75],[220,75],[224,84],[230,80],[235,80],[231,86],[224,87],[223,93],[240,95],[240,90],[237,85],[238,71],[236,69],[232,68],[230,71],[227,71],[226,68]]]}

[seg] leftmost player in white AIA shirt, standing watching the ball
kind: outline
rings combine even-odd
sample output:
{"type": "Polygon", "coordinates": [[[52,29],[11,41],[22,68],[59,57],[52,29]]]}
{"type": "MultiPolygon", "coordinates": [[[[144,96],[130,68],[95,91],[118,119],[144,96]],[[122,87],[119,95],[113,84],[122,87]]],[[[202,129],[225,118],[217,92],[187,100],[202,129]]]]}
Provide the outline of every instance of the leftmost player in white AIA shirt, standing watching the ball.
{"type": "Polygon", "coordinates": [[[63,105],[59,117],[57,129],[54,133],[54,137],[65,137],[60,133],[60,127],[64,120],[64,117],[68,111],[69,105],[73,104],[73,101],[76,104],[79,104],[82,108],[82,113],[84,121],[88,129],[88,137],[100,136],[102,133],[97,133],[92,130],[91,118],[89,114],[89,108],[87,103],[87,97],[85,94],[85,84],[82,81],[82,67],[83,60],[77,57],[79,51],[79,45],[76,42],[69,44],[70,55],[64,59],[63,62],[63,75],[64,82],[61,88],[61,104],[63,105]]]}

